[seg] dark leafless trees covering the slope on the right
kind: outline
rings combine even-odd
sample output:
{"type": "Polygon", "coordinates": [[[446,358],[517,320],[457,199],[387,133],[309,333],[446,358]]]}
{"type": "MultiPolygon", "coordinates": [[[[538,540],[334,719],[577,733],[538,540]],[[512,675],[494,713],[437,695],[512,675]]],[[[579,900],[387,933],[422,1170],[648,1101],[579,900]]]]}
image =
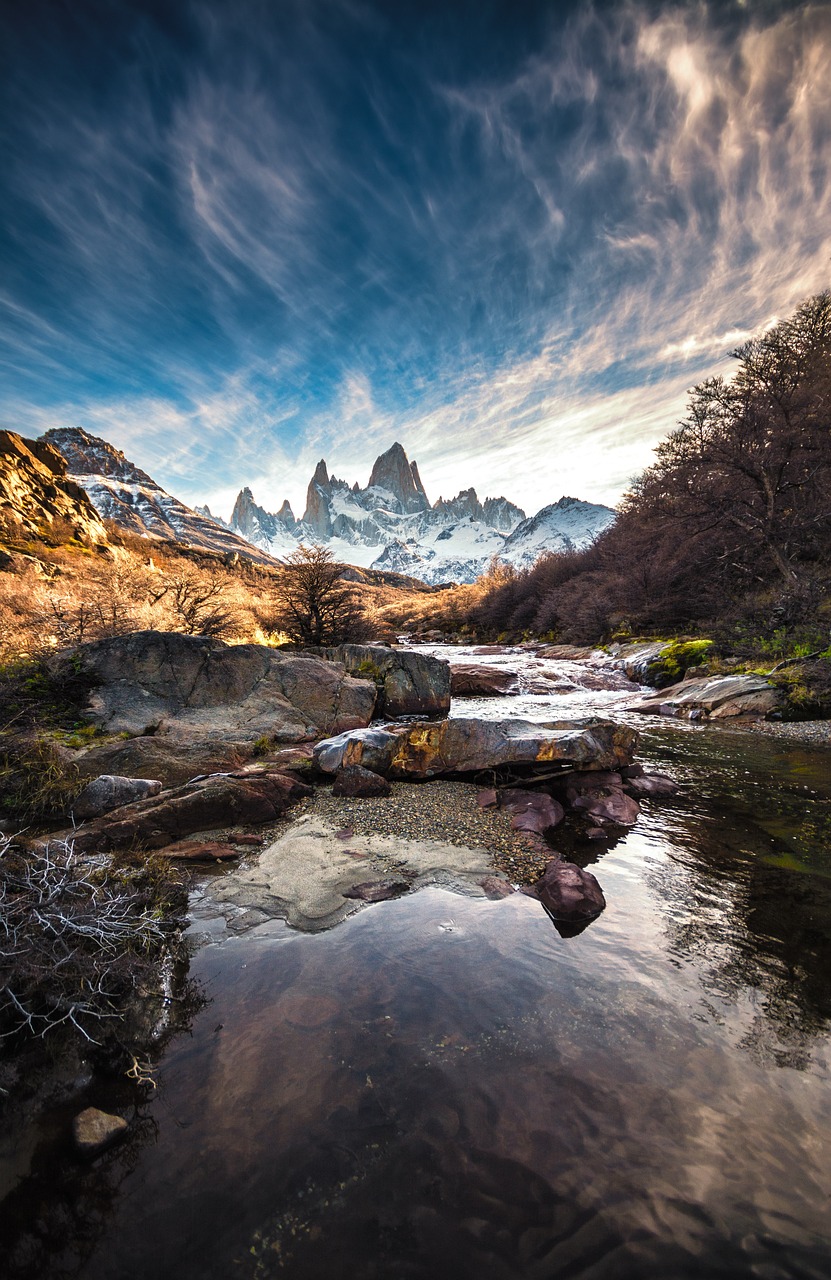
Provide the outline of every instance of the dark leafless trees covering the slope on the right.
{"type": "Polygon", "coordinates": [[[822,652],[831,627],[831,293],[694,388],[618,518],[474,608],[490,635],[712,637],[740,657],[822,652]]]}

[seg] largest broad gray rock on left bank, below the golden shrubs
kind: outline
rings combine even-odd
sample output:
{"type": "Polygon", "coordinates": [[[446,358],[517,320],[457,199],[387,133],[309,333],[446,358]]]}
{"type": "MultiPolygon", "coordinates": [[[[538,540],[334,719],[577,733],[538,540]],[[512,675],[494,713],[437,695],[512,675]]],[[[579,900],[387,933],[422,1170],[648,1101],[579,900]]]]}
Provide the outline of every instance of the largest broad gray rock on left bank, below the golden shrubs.
{"type": "Polygon", "coordinates": [[[296,742],[367,724],[375,708],[373,681],[265,645],[134,631],[76,655],[93,686],[87,714],[110,732],[296,742]]]}

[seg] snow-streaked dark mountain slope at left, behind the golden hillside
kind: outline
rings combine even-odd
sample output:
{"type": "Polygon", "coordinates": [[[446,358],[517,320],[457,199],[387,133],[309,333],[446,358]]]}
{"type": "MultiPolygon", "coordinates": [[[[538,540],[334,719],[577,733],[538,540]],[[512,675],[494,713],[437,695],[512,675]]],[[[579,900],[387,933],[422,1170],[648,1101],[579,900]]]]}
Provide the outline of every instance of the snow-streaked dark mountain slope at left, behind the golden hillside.
{"type": "Polygon", "coordinates": [[[274,557],[222,525],[205,508],[192,511],[131,462],[120,449],[76,426],[46,431],[33,445],[51,448],[65,460],[67,472],[104,520],[145,538],[170,539],[201,550],[238,554],[260,563],[274,557]]]}

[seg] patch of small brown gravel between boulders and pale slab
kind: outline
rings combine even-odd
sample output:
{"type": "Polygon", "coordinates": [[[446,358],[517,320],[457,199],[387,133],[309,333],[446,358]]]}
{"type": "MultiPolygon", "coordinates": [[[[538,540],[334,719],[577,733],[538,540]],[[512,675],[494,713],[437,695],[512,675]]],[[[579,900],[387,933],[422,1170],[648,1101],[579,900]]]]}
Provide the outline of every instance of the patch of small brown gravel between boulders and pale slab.
{"type": "Polygon", "coordinates": [[[498,809],[480,809],[481,787],[471,782],[393,782],[392,795],[348,800],[316,787],[314,796],[293,810],[315,813],[339,828],[361,836],[399,836],[439,840],[467,849],[485,849],[494,868],[515,883],[539,879],[553,850],[542,838],[512,831],[511,818],[498,809]]]}

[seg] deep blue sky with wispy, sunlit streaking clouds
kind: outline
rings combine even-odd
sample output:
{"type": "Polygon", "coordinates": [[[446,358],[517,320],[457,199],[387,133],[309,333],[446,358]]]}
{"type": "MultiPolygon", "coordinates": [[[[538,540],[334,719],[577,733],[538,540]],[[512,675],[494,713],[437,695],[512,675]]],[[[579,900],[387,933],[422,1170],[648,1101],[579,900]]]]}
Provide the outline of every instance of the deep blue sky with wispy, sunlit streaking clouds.
{"type": "Polygon", "coordinates": [[[0,425],[615,504],[831,285],[831,0],[0,0],[0,425]]]}

